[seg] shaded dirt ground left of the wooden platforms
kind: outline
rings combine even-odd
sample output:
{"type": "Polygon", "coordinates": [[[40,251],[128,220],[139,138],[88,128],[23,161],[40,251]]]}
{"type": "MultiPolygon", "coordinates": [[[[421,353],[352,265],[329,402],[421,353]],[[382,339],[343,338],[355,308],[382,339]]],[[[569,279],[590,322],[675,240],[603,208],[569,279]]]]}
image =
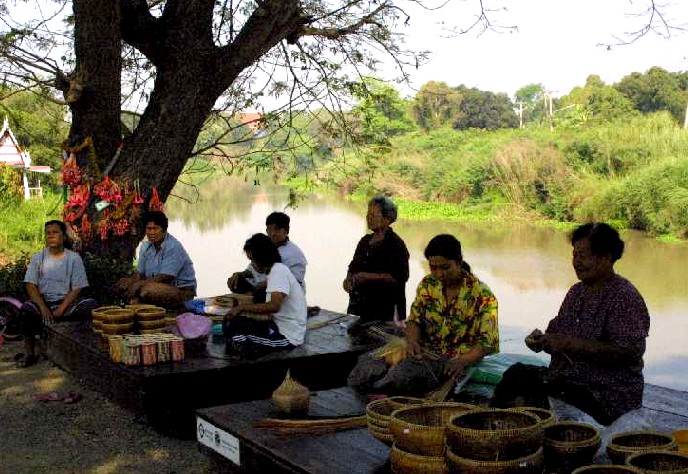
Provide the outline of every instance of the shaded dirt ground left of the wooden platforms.
{"type": "Polygon", "coordinates": [[[50,361],[19,369],[21,342],[0,345],[0,472],[205,473],[210,460],[195,440],[156,432],[141,419],[79,385],[50,361]],[[76,391],[74,404],[36,394],[76,391]]]}

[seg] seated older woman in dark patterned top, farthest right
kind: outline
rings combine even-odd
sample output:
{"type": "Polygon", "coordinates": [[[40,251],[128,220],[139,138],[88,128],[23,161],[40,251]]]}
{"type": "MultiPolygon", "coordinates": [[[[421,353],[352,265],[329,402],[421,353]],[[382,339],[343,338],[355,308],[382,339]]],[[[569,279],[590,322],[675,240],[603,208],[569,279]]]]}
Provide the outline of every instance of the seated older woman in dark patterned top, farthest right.
{"type": "Polygon", "coordinates": [[[638,290],[614,272],[624,250],[615,229],[582,225],[571,234],[571,245],[580,282],[569,289],[547,330],[535,329],[525,340],[531,350],[551,354],[549,367],[513,365],[492,405],[549,408],[553,397],[609,425],[642,406],[650,316],[638,290]]]}

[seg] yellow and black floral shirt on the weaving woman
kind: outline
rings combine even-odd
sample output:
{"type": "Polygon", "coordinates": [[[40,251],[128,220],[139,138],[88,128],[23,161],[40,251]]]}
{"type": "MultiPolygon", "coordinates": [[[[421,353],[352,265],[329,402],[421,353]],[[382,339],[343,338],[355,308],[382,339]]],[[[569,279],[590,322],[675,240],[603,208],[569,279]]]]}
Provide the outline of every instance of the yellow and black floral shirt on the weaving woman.
{"type": "Polygon", "coordinates": [[[421,329],[421,345],[446,358],[463,355],[479,344],[499,352],[497,298],[483,282],[463,272],[463,285],[449,301],[442,283],[426,275],[418,284],[407,321],[421,329]]]}

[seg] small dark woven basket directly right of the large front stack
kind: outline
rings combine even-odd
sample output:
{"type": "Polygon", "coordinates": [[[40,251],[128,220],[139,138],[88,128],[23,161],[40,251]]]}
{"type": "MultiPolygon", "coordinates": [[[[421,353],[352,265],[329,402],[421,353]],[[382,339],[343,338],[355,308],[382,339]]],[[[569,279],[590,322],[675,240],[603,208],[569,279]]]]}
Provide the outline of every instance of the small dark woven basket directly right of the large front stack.
{"type": "Polygon", "coordinates": [[[542,448],[547,472],[568,474],[592,463],[602,438],[593,425],[559,421],[545,428],[542,448]]]}

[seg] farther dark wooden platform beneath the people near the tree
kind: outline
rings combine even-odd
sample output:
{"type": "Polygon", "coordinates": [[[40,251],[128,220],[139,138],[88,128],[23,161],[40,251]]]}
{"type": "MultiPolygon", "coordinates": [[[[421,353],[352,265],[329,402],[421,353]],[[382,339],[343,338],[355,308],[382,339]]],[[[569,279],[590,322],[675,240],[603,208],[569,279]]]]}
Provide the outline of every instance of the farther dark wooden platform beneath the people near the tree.
{"type": "Polygon", "coordinates": [[[206,350],[187,353],[182,362],[128,367],[110,360],[90,323],[48,326],[47,353],[51,360],[82,383],[118,404],[147,417],[160,431],[193,437],[195,410],[268,398],[287,369],[312,390],[340,387],[357,357],[371,341],[354,341],[343,325],[351,318],[321,310],[309,319],[306,341],[292,350],[255,359],[225,354],[222,337],[212,336],[206,350]]]}

